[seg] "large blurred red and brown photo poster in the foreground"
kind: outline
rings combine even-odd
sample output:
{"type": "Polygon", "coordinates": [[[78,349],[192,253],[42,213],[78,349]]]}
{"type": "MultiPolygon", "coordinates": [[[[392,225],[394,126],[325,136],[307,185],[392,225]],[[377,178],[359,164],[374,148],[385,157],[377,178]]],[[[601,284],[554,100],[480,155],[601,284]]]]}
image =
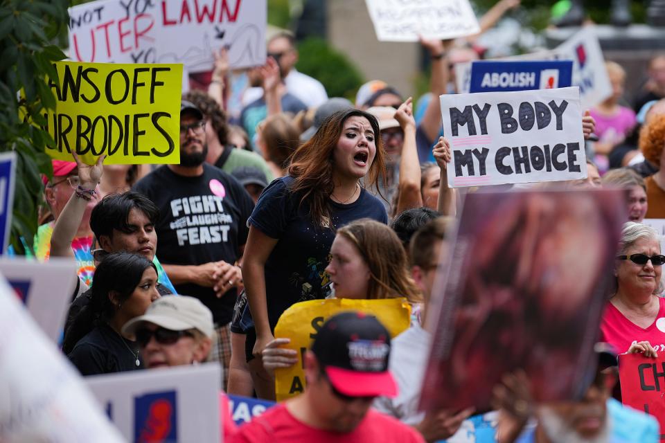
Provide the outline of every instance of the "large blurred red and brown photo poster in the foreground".
{"type": "Polygon", "coordinates": [[[432,294],[420,408],[488,410],[516,369],[535,401],[580,395],[595,370],[624,206],[610,190],[468,195],[432,294]]]}

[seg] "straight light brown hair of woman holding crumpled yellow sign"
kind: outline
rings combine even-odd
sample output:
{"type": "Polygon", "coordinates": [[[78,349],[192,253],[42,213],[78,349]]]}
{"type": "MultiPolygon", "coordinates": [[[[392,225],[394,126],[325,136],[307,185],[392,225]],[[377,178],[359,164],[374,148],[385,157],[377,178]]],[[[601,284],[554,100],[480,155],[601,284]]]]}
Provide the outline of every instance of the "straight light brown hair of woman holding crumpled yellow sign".
{"type": "Polygon", "coordinates": [[[391,228],[379,221],[360,219],[339,228],[337,235],[352,242],[369,267],[369,300],[406,297],[412,303],[423,301],[409,275],[402,242],[391,228]]]}

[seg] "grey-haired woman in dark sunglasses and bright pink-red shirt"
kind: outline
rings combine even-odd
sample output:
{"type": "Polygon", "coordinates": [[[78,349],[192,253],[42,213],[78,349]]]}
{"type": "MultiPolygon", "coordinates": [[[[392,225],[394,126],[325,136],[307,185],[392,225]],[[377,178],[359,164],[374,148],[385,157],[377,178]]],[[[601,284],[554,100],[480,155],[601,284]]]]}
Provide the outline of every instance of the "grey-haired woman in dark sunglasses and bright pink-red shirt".
{"type": "Polygon", "coordinates": [[[665,298],[661,255],[656,231],[628,221],[623,225],[614,267],[617,291],[603,314],[601,341],[617,352],[665,352],[665,298]]]}

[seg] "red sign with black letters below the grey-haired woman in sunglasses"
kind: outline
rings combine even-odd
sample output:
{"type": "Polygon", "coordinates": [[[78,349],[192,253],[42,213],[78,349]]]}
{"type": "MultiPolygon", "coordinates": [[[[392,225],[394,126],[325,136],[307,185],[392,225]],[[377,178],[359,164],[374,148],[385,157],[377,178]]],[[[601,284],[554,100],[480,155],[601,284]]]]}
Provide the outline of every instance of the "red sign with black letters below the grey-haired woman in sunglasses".
{"type": "MultiPolygon", "coordinates": [[[[619,355],[621,401],[637,410],[653,415],[665,429],[665,355],[657,359],[642,354],[619,355]]],[[[665,435],[661,435],[661,440],[665,435]]]]}

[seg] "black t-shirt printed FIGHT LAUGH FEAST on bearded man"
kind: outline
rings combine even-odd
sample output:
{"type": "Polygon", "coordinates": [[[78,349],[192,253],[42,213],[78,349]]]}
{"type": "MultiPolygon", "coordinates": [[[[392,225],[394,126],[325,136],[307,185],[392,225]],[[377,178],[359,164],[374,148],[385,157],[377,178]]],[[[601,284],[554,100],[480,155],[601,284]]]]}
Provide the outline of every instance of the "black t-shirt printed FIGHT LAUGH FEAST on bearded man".
{"type": "MultiPolygon", "coordinates": [[[[134,190],[159,208],[157,255],[163,264],[198,265],[224,260],[234,264],[247,241],[247,219],[254,209],[245,188],[230,174],[204,163],[198,177],[184,177],[168,166],[143,177],[134,190]]],[[[231,321],[236,289],[221,298],[212,288],[176,284],[179,294],[201,300],[213,311],[215,323],[231,321]]]]}

